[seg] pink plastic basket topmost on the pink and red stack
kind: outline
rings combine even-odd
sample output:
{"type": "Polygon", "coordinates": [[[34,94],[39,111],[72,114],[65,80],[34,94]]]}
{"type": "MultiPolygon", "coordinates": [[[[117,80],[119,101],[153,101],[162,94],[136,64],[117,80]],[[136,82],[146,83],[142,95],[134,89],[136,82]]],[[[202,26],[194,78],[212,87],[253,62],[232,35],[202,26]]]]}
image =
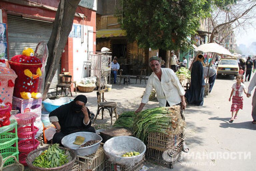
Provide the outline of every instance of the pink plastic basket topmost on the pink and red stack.
{"type": "Polygon", "coordinates": [[[37,114],[33,112],[18,113],[15,115],[15,119],[17,123],[20,125],[32,124],[35,122],[36,117],[37,117],[37,114]]]}

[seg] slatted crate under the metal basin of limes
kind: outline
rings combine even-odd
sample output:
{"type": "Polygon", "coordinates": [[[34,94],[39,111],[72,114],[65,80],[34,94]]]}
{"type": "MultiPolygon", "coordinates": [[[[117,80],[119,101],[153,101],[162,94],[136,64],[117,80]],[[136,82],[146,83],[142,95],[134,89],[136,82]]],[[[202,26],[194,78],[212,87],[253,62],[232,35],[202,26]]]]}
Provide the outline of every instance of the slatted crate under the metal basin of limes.
{"type": "Polygon", "coordinates": [[[145,163],[145,157],[133,166],[125,166],[120,164],[114,164],[109,160],[106,160],[106,171],[139,171],[145,163]]]}

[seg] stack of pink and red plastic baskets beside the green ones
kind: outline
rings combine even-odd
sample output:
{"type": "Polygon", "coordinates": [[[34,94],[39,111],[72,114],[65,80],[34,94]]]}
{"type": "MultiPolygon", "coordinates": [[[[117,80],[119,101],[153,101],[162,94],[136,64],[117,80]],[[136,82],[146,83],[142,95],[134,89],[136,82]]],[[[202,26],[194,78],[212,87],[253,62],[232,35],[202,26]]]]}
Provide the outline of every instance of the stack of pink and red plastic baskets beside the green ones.
{"type": "Polygon", "coordinates": [[[36,126],[34,126],[36,117],[37,114],[33,112],[19,113],[15,115],[18,125],[22,126],[18,128],[18,137],[25,139],[18,142],[18,149],[20,152],[19,162],[25,166],[27,165],[26,158],[28,153],[37,149],[39,145],[39,141],[35,139],[35,135],[39,130],[36,126]]]}

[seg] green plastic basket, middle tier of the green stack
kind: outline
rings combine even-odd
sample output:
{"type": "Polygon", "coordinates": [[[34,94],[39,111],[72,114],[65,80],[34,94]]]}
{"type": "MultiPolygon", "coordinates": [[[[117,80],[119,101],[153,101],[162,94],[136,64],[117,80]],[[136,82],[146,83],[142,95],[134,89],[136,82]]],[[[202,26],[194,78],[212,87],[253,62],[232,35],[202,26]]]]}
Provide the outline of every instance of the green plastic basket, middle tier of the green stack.
{"type": "Polygon", "coordinates": [[[16,133],[6,132],[0,134],[0,150],[12,146],[17,139],[16,133]]]}

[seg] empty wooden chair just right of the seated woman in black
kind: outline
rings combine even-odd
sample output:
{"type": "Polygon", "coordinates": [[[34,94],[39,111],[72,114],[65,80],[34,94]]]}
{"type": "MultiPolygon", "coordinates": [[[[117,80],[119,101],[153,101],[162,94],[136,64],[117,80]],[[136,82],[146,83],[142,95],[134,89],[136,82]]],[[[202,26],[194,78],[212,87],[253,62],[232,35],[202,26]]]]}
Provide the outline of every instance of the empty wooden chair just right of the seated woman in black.
{"type": "Polygon", "coordinates": [[[101,110],[101,113],[102,113],[102,118],[103,119],[103,113],[104,113],[104,109],[107,109],[110,113],[110,118],[111,118],[111,125],[112,125],[112,115],[113,115],[113,111],[115,112],[115,116],[116,116],[116,119],[117,119],[117,112],[116,112],[116,102],[107,102],[104,98],[104,92],[106,90],[103,89],[103,90],[100,90],[100,91],[97,91],[97,103],[98,103],[98,109],[97,109],[97,114],[95,116],[95,119],[93,121],[93,123],[95,122],[95,120],[97,119],[97,116],[98,114],[100,113],[100,110],[101,110]]]}

